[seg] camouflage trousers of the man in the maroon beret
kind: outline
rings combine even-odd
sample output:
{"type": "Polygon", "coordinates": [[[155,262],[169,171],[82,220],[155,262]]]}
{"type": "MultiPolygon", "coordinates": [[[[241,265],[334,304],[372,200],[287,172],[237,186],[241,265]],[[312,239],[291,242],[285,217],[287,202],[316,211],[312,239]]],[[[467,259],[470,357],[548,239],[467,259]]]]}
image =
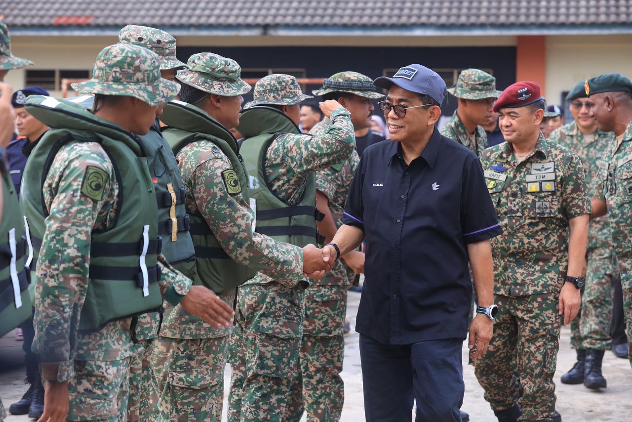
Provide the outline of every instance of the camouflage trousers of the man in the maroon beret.
{"type": "Polygon", "coordinates": [[[552,421],[562,318],[559,294],[495,295],[499,314],[487,352],[475,361],[475,375],[492,410],[520,402],[518,421],[552,421]],[[520,392],[523,392],[520,397],[520,392]]]}

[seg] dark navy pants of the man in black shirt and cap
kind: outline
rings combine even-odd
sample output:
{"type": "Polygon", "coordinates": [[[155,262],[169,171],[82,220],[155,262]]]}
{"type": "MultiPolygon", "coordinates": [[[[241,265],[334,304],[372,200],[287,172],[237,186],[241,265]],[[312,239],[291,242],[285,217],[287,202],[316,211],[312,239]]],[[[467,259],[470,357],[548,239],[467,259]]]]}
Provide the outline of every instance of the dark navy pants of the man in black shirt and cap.
{"type": "Polygon", "coordinates": [[[463,404],[462,338],[408,345],[382,344],[360,335],[367,422],[458,422],[463,404]]]}

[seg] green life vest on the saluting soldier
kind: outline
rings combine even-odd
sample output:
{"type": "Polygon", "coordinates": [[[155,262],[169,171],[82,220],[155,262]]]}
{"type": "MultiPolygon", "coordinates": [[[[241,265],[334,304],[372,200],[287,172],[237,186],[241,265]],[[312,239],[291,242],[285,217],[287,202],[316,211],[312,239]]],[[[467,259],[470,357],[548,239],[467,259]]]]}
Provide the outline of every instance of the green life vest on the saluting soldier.
{"type": "Polygon", "coordinates": [[[299,247],[324,242],[316,229],[316,222],[322,220],[323,214],[315,208],[315,173],[305,179],[303,196],[293,205],[270,189],[265,176],[270,144],[283,133],[301,133],[295,123],[276,108],[255,106],[243,111],[236,129],[244,136],[240,140],[240,154],[250,175],[250,197],[256,201],[257,233],[299,247]]]}

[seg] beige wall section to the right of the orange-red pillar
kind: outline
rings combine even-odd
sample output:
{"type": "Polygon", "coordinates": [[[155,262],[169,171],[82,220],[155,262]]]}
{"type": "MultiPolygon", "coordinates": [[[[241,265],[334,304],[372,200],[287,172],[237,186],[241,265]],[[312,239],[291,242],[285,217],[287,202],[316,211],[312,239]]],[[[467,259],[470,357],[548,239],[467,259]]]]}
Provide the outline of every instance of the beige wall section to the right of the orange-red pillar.
{"type": "Polygon", "coordinates": [[[550,35],[546,40],[545,97],[559,104],[577,82],[602,73],[632,78],[632,35],[550,35]]]}

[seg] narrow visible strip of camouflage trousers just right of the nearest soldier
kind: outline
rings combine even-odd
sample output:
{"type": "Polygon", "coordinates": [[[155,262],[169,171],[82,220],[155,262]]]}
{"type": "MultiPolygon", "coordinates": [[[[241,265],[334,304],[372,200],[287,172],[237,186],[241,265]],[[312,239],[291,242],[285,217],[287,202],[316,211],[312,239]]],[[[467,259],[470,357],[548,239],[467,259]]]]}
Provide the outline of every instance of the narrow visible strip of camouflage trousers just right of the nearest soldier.
{"type": "Polygon", "coordinates": [[[127,405],[128,422],[155,421],[158,411],[157,390],[151,368],[154,340],[140,340],[143,352],[131,357],[130,399],[127,405]]]}

